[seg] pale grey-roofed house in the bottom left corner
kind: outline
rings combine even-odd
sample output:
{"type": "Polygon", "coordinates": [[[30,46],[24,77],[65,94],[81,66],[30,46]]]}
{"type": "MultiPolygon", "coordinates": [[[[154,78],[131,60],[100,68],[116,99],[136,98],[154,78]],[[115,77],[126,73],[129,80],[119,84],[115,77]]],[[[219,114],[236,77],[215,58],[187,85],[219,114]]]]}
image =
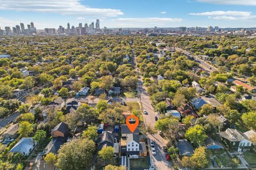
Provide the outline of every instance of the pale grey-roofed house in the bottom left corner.
{"type": "Polygon", "coordinates": [[[21,140],[16,143],[16,145],[9,152],[20,153],[28,156],[34,150],[36,145],[37,142],[33,138],[21,138],[21,140]]]}

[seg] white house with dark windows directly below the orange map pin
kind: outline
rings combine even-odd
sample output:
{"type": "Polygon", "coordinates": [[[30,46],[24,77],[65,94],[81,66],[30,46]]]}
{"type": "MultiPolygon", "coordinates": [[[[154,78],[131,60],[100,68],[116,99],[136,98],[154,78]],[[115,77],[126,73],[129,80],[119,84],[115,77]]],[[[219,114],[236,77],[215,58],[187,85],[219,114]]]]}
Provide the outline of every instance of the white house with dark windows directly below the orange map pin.
{"type": "Polygon", "coordinates": [[[138,134],[126,135],[126,155],[128,158],[139,158],[140,142],[138,134]]]}

